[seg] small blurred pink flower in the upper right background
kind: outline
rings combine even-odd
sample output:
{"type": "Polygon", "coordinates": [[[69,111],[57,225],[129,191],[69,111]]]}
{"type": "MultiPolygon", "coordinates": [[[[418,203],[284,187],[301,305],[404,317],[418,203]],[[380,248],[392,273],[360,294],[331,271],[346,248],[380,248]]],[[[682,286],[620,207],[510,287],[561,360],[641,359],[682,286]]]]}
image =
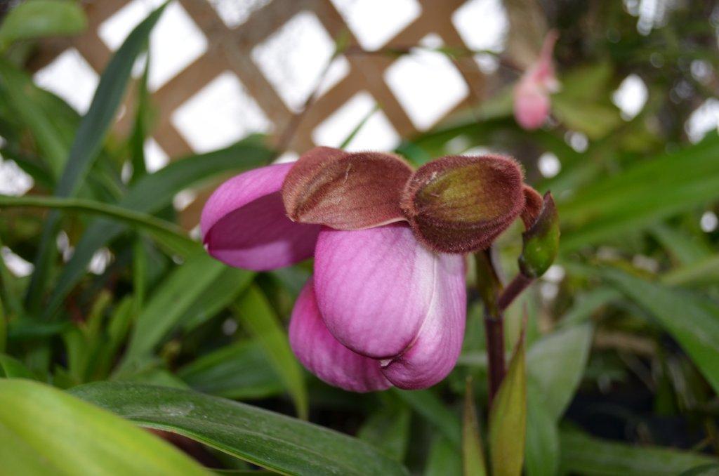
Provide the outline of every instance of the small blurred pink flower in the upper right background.
{"type": "Polygon", "coordinates": [[[554,31],[546,35],[539,59],[526,70],[514,90],[514,116],[524,129],[537,129],[544,124],[551,107],[549,95],[559,90],[551,60],[558,37],[554,31]]]}

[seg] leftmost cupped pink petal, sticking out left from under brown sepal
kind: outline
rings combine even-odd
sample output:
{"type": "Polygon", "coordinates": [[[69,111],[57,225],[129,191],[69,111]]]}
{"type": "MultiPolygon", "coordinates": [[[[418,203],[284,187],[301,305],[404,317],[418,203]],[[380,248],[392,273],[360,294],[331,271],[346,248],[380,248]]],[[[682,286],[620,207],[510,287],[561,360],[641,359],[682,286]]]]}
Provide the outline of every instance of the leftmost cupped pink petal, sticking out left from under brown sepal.
{"type": "Polygon", "coordinates": [[[291,163],[269,165],[223,183],[205,203],[200,226],[213,257],[249,270],[272,270],[312,256],[320,226],[296,224],[280,195],[291,163]]]}

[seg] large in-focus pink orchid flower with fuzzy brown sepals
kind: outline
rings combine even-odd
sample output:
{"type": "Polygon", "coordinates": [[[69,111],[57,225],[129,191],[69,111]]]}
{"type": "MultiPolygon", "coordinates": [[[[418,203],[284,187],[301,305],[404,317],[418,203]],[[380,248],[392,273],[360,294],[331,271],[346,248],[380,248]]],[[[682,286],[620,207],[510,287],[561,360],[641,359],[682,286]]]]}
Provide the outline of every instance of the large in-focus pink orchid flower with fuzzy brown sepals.
{"type": "Polygon", "coordinates": [[[464,253],[516,219],[525,188],[506,157],[444,157],[413,171],[395,155],[316,147],[227,180],[201,229],[209,254],[235,267],[314,257],[289,338],[321,380],[356,392],[426,388],[462,347],[464,253]]]}

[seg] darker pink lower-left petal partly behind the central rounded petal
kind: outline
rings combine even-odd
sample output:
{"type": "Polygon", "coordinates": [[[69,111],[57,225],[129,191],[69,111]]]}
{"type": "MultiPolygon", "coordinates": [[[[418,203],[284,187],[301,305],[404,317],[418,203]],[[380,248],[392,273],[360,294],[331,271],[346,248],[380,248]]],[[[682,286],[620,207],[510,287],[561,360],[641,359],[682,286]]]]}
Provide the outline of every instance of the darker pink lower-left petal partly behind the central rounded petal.
{"type": "Polygon", "coordinates": [[[380,362],[355,354],[329,333],[319,314],[311,279],[292,311],[290,346],[302,365],[330,385],[353,392],[391,386],[380,372],[380,362]]]}

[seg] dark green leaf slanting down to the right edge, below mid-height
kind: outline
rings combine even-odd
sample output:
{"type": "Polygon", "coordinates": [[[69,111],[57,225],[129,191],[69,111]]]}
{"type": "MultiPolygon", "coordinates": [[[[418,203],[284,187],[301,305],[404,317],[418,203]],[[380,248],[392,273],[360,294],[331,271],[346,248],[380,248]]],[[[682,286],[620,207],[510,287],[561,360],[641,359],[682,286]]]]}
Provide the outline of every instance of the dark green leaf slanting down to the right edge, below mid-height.
{"type": "Polygon", "coordinates": [[[719,306],[695,294],[651,283],[620,270],[605,269],[602,275],[651,313],[677,339],[719,393],[719,306]]]}

